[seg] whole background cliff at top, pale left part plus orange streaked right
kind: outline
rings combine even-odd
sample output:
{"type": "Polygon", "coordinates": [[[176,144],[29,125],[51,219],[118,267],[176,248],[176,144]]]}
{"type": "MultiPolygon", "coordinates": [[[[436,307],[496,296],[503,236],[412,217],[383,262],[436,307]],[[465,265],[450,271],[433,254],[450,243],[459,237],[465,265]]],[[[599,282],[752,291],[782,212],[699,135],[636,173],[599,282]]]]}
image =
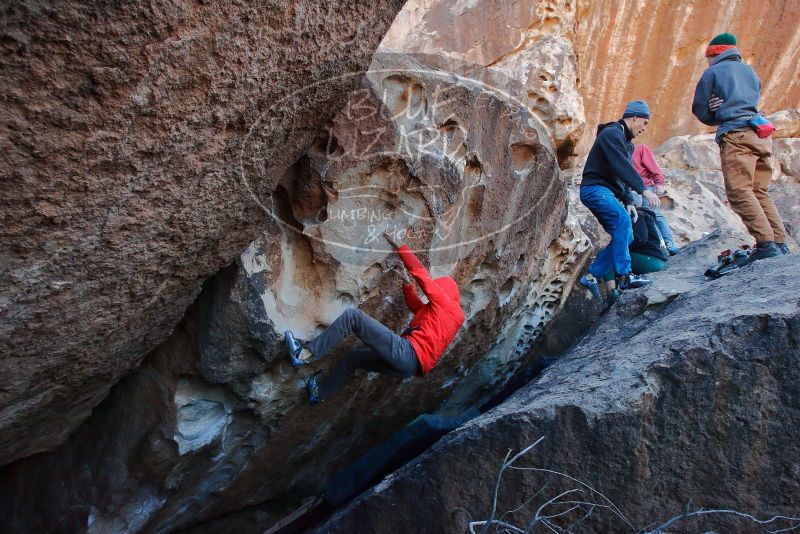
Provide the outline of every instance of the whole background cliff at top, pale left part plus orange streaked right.
{"type": "Polygon", "coordinates": [[[798,0],[410,0],[382,46],[491,66],[546,36],[571,40],[587,124],[581,152],[596,124],[637,98],[654,110],[642,142],[710,131],[690,106],[705,46],[723,31],[761,77],[764,111],[798,107],[799,22],[798,0]]]}

